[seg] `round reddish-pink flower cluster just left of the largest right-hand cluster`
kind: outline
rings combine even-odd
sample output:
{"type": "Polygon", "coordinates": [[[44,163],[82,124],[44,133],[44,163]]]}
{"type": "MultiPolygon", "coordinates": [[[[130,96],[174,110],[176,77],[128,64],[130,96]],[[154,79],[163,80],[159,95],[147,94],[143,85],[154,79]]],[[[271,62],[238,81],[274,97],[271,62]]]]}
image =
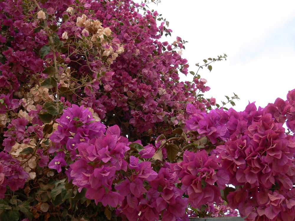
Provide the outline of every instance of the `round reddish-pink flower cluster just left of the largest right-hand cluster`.
{"type": "Polygon", "coordinates": [[[216,156],[208,156],[205,150],[184,151],[183,161],[172,164],[171,169],[181,178],[181,189],[189,196],[192,207],[222,202],[219,188],[224,189],[230,177],[221,169],[216,156]]]}

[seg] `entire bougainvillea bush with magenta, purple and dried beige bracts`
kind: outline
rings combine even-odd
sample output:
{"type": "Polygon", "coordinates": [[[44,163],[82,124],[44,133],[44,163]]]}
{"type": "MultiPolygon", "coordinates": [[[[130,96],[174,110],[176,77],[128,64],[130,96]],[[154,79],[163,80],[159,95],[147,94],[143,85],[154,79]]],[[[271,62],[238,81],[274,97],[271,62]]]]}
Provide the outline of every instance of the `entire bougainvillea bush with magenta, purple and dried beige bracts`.
{"type": "Polygon", "coordinates": [[[241,112],[206,99],[198,71],[226,55],[182,82],[185,41],[131,0],[0,17],[0,220],[295,219],[295,89],[241,112]]]}

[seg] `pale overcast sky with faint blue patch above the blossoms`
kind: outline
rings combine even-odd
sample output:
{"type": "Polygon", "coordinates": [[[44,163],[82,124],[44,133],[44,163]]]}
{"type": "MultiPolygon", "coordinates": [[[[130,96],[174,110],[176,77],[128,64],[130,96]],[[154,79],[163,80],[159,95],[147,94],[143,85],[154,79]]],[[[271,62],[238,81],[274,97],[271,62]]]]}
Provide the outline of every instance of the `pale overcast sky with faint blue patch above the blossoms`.
{"type": "Polygon", "coordinates": [[[203,59],[227,54],[227,61],[212,64],[211,73],[199,71],[211,88],[205,97],[221,103],[235,93],[240,97],[235,109],[242,111],[248,100],[265,107],[277,97],[286,100],[295,88],[294,0],[161,0],[149,6],[170,22],[168,42],[176,36],[188,41],[182,57],[189,71],[196,72],[195,63],[203,59]]]}

